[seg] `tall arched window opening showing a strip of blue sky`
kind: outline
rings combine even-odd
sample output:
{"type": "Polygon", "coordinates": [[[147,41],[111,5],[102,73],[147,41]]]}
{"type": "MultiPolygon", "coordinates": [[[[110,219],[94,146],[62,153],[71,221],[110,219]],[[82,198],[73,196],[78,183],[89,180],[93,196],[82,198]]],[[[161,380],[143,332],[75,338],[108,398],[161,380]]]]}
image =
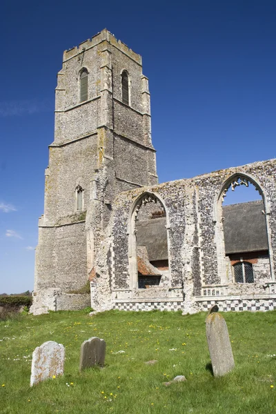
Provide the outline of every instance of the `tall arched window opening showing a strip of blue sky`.
{"type": "Polygon", "coordinates": [[[232,282],[232,266],[236,283],[271,279],[263,197],[261,188],[245,175],[233,176],[221,192],[217,248],[222,283],[232,282]]]}

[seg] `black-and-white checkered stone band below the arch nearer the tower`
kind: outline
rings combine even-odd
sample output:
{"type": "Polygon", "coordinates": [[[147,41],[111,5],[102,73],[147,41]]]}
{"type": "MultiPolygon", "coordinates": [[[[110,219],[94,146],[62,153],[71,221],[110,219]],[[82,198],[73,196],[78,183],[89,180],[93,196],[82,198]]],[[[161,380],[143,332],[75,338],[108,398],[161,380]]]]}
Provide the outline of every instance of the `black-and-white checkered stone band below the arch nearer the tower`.
{"type": "Polygon", "coordinates": [[[184,302],[115,302],[113,309],[119,311],[182,311],[184,302]]]}

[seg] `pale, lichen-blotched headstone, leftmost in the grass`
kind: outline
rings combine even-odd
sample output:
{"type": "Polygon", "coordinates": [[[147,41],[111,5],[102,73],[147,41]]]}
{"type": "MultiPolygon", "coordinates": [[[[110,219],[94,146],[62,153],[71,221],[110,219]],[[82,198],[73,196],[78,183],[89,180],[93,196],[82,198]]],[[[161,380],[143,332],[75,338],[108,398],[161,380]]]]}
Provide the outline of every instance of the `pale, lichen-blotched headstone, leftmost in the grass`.
{"type": "Polygon", "coordinates": [[[65,348],[54,341],[44,342],[37,346],[32,353],[32,372],[30,386],[52,378],[54,375],[63,375],[65,348]]]}

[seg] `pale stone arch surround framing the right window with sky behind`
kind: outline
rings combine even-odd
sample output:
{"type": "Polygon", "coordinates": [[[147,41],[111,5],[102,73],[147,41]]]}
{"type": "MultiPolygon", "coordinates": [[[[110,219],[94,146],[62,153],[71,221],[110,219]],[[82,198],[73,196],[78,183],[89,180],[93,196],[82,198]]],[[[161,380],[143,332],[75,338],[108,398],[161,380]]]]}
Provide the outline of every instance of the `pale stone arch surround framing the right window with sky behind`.
{"type": "Polygon", "coordinates": [[[213,222],[215,224],[215,240],[217,245],[217,273],[220,279],[221,284],[227,284],[228,277],[226,274],[226,250],[224,243],[224,226],[223,226],[223,215],[222,215],[222,203],[224,197],[226,196],[227,191],[232,188],[235,190],[236,186],[246,186],[252,184],[255,189],[258,191],[259,195],[262,197],[264,203],[264,215],[266,221],[266,234],[268,239],[268,256],[270,261],[270,275],[271,279],[274,280],[273,272],[273,255],[271,247],[271,237],[270,237],[270,225],[268,220],[268,215],[270,214],[270,205],[266,197],[266,191],[262,188],[256,177],[253,177],[250,174],[244,172],[235,172],[224,181],[224,184],[221,186],[218,195],[215,197],[214,208],[213,208],[213,222]]]}

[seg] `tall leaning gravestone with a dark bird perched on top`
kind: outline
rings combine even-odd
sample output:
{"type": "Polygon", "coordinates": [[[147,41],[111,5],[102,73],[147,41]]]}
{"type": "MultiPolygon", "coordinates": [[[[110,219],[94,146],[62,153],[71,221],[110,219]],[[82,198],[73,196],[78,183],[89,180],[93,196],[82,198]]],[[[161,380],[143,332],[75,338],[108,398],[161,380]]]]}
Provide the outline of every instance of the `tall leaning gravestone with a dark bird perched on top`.
{"type": "Polygon", "coordinates": [[[206,318],[206,337],[215,377],[232,371],[235,366],[226,322],[220,313],[206,318]]]}

